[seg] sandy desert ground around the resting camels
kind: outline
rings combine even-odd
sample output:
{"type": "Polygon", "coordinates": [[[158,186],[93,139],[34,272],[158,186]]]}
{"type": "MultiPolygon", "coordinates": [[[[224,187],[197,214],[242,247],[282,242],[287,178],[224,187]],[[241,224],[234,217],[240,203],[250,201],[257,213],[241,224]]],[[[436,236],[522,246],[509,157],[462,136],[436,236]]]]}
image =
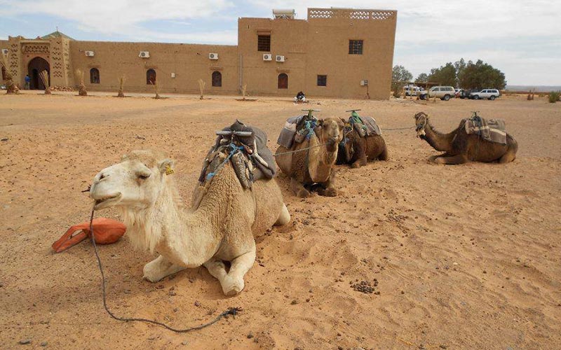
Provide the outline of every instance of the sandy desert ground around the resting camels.
{"type": "MultiPolygon", "coordinates": [[[[319,103],[319,104],[317,104],[319,103]]],[[[318,116],[363,109],[384,128],[426,111],[438,130],[480,111],[503,118],[520,148],[507,165],[439,166],[414,130],[384,132],[391,160],[337,167],[338,197],[301,200],[280,174],[292,221],[263,232],[245,290],[224,297],[203,268],[142,280],[147,253],[102,246],[111,309],[176,327],[243,307],[205,330],[175,334],[105,314],[88,241],[50,244],[88,220],[80,192],[123,153],[159,148],[177,161],[189,200],[214,132],[240,118],[275,141],[288,99],[0,96],[0,349],[558,349],[561,344],[561,104],[523,97],[450,102],[321,99],[318,116]],[[374,281],[379,294],[350,283],[374,281]],[[171,295],[170,290],[175,291],[171,295]],[[30,344],[20,345],[29,339],[30,344]]],[[[189,202],[189,201],[187,201],[189,202]]],[[[97,215],[116,218],[114,211],[97,215]]]]}

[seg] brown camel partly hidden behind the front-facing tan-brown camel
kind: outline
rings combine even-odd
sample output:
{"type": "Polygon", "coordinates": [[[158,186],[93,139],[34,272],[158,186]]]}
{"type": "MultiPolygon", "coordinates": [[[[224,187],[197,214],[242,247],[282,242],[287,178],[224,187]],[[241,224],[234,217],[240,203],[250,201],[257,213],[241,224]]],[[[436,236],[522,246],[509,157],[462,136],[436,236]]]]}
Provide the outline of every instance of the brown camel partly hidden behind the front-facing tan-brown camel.
{"type": "MultiPolygon", "coordinates": [[[[346,120],[341,118],[343,123],[346,120]]],[[[337,164],[350,164],[352,168],[360,168],[367,161],[388,160],[388,148],[381,135],[360,137],[353,126],[345,127],[345,139],[339,145],[337,164]]]]}

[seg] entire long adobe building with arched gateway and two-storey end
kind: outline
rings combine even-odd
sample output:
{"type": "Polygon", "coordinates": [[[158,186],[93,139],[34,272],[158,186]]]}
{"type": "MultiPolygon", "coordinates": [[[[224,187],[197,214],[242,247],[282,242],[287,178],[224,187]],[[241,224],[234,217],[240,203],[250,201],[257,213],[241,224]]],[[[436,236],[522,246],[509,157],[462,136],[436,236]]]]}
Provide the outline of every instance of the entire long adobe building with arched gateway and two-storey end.
{"type": "Polygon", "coordinates": [[[239,18],[238,45],[77,41],[55,31],[36,39],[0,41],[13,80],[42,89],[75,86],[84,72],[88,90],[388,99],[397,11],[309,8],[307,20],[239,18]]]}

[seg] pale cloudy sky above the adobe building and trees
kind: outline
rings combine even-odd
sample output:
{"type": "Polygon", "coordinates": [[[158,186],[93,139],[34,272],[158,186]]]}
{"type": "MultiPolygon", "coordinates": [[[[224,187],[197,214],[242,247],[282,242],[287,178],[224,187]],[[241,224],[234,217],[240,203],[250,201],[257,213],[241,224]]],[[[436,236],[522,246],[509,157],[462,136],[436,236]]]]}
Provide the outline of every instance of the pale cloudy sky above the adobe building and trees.
{"type": "Polygon", "coordinates": [[[273,8],[398,10],[393,64],[414,77],[461,57],[482,59],[508,85],[561,85],[560,0],[0,0],[0,40],[56,28],[76,40],[237,44],[240,17],[273,8]]]}

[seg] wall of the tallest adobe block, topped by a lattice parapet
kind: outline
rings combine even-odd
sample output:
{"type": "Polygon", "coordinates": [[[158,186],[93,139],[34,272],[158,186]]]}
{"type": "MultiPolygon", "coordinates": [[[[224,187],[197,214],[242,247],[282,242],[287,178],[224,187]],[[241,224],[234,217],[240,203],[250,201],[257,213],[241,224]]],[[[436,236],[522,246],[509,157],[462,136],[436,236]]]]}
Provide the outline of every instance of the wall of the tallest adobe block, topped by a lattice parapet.
{"type": "Polygon", "coordinates": [[[397,11],[309,8],[308,22],[310,94],[363,98],[368,89],[372,99],[389,98],[397,11]],[[363,55],[349,55],[349,40],[363,40],[363,55]],[[317,86],[318,74],[327,75],[326,87],[317,86]]]}

